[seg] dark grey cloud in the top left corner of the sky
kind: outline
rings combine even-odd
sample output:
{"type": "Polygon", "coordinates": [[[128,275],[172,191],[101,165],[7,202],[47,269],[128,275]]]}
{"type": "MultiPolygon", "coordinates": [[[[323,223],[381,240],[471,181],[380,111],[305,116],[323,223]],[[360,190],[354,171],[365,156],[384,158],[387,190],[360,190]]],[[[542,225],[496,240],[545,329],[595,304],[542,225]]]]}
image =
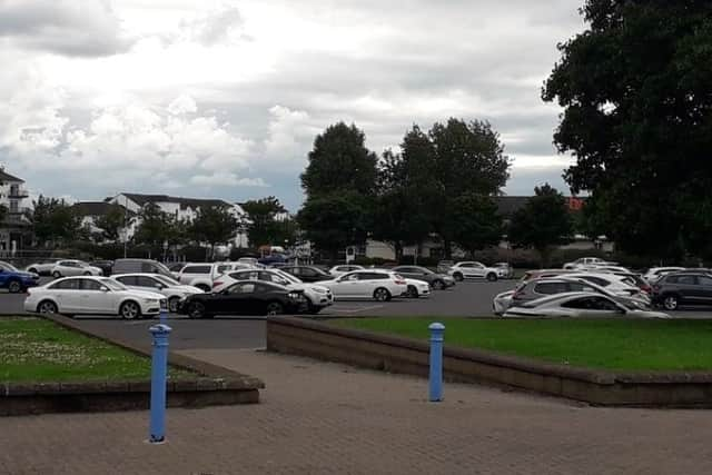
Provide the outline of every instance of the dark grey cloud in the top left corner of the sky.
{"type": "Polygon", "coordinates": [[[73,57],[117,55],[132,44],[107,0],[2,0],[0,37],[73,57]]]}

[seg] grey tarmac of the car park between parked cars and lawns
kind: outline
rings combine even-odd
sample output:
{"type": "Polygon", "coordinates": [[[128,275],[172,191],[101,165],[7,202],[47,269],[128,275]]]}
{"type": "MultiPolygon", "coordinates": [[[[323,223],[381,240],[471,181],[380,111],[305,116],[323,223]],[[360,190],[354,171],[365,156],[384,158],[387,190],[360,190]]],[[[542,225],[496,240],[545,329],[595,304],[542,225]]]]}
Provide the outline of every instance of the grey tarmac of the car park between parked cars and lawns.
{"type": "MultiPolygon", "coordinates": [[[[47,278],[42,279],[48,281],[47,278]]],[[[378,303],[337,301],[323,310],[318,318],[358,317],[491,317],[492,299],[514,287],[513,280],[465,281],[447,290],[436,290],[429,298],[394,299],[378,303]]],[[[24,314],[24,294],[0,294],[0,315],[24,314]]],[[[712,309],[685,309],[672,314],[675,318],[710,318],[712,309]]],[[[216,317],[208,320],[191,320],[181,315],[169,315],[174,331],[172,349],[200,348],[261,348],[265,346],[265,317],[216,317]]],[[[79,316],[77,320],[87,329],[100,330],[122,339],[148,342],[148,328],[152,320],[126,321],[116,317],[79,316]]]]}

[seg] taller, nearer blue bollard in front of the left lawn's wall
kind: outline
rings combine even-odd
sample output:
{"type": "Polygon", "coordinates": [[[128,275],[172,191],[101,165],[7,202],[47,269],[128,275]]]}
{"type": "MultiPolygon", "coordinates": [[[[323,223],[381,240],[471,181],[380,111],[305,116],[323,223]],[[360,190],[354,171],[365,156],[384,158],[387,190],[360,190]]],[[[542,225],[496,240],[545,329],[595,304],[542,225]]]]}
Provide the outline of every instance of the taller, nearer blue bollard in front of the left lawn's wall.
{"type": "Polygon", "coordinates": [[[168,373],[168,335],[171,328],[158,324],[149,328],[154,338],[151,357],[151,444],[166,439],[166,377],[168,373]]]}

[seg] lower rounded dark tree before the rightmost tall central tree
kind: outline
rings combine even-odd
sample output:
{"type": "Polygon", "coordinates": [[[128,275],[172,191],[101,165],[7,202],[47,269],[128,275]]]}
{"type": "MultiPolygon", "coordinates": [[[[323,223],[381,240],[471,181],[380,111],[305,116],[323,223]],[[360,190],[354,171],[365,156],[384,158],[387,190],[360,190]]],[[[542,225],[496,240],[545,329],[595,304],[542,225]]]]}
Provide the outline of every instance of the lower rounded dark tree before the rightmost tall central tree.
{"type": "Polygon", "coordinates": [[[502,217],[494,200],[484,195],[465,194],[453,200],[448,214],[452,229],[448,235],[461,248],[475,255],[502,240],[502,217]]]}

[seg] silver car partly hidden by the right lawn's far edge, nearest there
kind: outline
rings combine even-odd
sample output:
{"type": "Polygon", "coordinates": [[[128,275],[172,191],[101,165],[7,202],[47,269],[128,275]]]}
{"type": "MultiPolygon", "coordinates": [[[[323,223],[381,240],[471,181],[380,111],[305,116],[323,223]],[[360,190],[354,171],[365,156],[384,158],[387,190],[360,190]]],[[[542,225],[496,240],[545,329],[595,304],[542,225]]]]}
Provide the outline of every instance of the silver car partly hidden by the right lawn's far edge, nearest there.
{"type": "Polygon", "coordinates": [[[551,295],[512,307],[504,317],[670,318],[670,315],[630,307],[601,294],[574,291],[551,295]]]}

